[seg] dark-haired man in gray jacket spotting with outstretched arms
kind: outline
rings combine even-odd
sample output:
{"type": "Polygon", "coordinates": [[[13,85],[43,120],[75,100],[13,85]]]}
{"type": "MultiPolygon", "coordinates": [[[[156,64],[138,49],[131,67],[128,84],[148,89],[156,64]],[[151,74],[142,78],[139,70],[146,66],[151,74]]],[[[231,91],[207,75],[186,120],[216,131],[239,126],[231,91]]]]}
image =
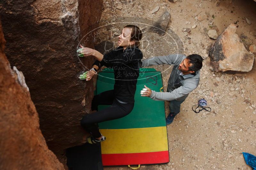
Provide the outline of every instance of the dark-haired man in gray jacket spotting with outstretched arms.
{"type": "Polygon", "coordinates": [[[167,125],[171,124],[174,117],[180,112],[180,104],[198,86],[202,62],[203,58],[198,54],[191,54],[187,57],[183,54],[170,54],[141,60],[141,67],[161,64],[173,65],[167,92],[156,92],[145,86],[147,90],[141,93],[141,96],[147,96],[153,100],[170,101],[170,113],[166,118],[167,125]]]}

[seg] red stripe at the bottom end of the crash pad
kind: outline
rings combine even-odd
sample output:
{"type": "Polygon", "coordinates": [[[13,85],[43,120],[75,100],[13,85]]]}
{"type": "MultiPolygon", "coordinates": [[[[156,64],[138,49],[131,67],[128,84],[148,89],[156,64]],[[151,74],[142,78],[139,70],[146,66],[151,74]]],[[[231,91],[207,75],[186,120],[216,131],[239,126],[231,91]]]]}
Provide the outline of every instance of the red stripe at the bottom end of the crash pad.
{"type": "Polygon", "coordinates": [[[103,166],[112,165],[143,165],[169,162],[169,151],[101,154],[103,166]]]}

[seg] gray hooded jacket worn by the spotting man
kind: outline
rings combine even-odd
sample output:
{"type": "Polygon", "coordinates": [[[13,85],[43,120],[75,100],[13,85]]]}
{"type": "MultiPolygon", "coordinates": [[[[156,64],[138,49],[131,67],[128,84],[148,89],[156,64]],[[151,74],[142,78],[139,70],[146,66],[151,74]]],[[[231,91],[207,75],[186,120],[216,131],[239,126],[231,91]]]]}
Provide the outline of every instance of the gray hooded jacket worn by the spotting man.
{"type": "Polygon", "coordinates": [[[172,73],[170,75],[167,92],[156,92],[152,90],[150,96],[153,100],[178,100],[182,101],[188,97],[188,94],[196,89],[199,84],[200,71],[196,71],[194,75],[186,74],[180,75],[181,71],[178,69],[180,63],[186,58],[183,54],[170,54],[167,56],[158,56],[145,60],[141,60],[141,67],[169,64],[173,65],[172,73]]]}

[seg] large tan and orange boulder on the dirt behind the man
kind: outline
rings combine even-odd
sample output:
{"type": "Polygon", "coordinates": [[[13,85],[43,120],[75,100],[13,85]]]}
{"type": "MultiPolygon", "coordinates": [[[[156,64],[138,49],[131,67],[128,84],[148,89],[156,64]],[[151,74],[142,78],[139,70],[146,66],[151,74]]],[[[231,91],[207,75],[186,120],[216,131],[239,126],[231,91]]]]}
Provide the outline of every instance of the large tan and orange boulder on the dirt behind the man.
{"type": "Polygon", "coordinates": [[[252,70],[254,56],[245,49],[234,24],[230,24],[210,46],[209,55],[214,71],[244,73],[252,70]]]}

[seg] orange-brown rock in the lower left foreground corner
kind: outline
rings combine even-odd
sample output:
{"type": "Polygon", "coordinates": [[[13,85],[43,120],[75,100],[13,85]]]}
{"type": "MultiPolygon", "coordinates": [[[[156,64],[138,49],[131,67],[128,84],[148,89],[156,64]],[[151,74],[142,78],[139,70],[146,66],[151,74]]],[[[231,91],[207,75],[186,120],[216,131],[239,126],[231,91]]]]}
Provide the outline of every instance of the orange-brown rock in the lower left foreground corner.
{"type": "Polygon", "coordinates": [[[4,54],[0,21],[0,169],[63,169],[46,145],[22,72],[4,54]]]}

